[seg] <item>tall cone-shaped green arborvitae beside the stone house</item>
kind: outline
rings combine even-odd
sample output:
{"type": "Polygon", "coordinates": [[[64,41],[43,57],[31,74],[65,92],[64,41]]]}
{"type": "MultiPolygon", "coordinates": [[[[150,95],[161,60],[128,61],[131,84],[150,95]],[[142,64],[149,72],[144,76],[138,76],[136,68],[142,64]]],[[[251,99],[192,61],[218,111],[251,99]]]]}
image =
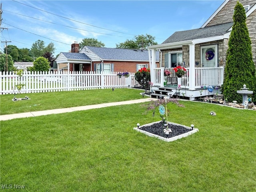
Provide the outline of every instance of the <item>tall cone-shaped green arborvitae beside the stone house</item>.
{"type": "Polygon", "coordinates": [[[227,60],[224,73],[222,93],[228,101],[236,100],[242,103],[242,95],[236,91],[243,88],[253,90],[253,101],[256,101],[256,72],[252,60],[252,47],[248,28],[246,27],[246,14],[242,4],[237,2],[234,8],[234,24],[228,42],[227,60]]]}

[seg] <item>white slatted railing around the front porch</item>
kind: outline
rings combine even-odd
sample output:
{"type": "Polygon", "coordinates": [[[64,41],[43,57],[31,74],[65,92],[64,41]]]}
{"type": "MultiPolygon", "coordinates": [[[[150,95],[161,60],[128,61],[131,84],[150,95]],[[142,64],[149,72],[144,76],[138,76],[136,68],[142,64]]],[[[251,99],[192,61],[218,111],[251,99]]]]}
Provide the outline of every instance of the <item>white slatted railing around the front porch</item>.
{"type": "Polygon", "coordinates": [[[223,83],[224,67],[211,67],[211,68],[195,68],[195,74],[190,73],[190,69],[186,68],[186,74],[178,80],[173,68],[155,68],[154,69],[154,85],[164,86],[164,70],[172,72],[166,79],[167,85],[180,84],[181,88],[196,89],[201,86],[220,86],[223,83]],[[161,75],[162,74],[162,75],[161,75]],[[189,83],[189,77],[195,77],[195,84],[189,83]]]}

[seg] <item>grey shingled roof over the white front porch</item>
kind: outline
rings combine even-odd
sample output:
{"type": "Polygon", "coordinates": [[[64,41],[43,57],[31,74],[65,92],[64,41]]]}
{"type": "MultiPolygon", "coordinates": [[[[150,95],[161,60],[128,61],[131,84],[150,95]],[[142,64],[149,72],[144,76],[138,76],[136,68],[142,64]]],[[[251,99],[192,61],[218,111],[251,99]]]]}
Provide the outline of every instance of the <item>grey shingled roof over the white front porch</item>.
{"type": "Polygon", "coordinates": [[[186,40],[195,40],[201,38],[215,37],[226,34],[228,29],[232,27],[233,22],[228,22],[224,24],[192,29],[186,31],[178,31],[172,34],[168,39],[166,39],[162,44],[174,43],[186,40]]]}

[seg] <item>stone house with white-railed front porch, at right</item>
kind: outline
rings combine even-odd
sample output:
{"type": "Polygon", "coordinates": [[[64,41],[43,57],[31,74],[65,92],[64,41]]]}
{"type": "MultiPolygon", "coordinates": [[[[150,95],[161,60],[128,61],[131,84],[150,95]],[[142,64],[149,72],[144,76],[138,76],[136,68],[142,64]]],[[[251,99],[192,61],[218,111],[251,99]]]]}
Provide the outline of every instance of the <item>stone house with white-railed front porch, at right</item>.
{"type": "MultiPolygon", "coordinates": [[[[256,1],[239,2],[246,10],[246,24],[252,41],[253,61],[256,64],[256,1]]],[[[173,68],[180,65],[187,69],[187,74],[182,79],[179,78],[176,84],[181,84],[181,92],[186,93],[191,100],[200,96],[201,86],[221,86],[236,3],[236,0],[225,0],[201,28],[175,32],[162,44],[149,46],[152,50],[151,82],[155,86],[164,87],[164,77],[159,76],[163,74],[161,70],[168,68],[175,78],[173,68]],[[161,69],[154,68],[156,50],[161,52],[161,69]],[[206,54],[210,52],[213,53],[212,56],[206,58],[206,54]]]]}

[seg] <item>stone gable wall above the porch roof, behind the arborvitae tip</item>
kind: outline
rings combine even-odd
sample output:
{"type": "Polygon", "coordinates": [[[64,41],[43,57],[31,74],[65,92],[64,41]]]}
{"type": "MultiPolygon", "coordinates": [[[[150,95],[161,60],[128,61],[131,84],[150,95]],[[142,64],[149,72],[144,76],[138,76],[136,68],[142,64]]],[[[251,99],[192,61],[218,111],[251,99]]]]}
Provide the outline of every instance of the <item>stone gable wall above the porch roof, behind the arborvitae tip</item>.
{"type": "MultiPolygon", "coordinates": [[[[239,0],[243,5],[250,5],[252,7],[256,2],[255,0],[239,0]]],[[[206,26],[218,25],[227,22],[233,22],[233,13],[237,0],[230,0],[227,4],[212,18],[206,26]]]]}

